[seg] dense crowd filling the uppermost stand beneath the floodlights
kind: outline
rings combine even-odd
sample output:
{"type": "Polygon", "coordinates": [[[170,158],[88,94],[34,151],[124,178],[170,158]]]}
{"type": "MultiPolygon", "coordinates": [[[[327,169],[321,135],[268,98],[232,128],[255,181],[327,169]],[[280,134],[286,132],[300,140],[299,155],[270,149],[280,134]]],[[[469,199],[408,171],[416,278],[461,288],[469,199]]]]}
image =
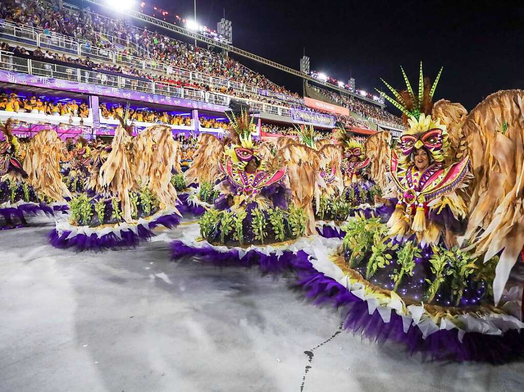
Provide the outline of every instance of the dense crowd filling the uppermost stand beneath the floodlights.
{"type": "Polygon", "coordinates": [[[151,65],[165,63],[299,98],[298,94],[272,83],[264,75],[249,70],[230,57],[194,47],[147,28],[134,27],[128,21],[107,18],[86,10],[59,9],[57,0],[4,0],[0,4],[0,18],[43,28],[46,34],[60,33],[89,41],[93,50],[106,49],[124,57],[133,55],[147,58],[151,65]]]}

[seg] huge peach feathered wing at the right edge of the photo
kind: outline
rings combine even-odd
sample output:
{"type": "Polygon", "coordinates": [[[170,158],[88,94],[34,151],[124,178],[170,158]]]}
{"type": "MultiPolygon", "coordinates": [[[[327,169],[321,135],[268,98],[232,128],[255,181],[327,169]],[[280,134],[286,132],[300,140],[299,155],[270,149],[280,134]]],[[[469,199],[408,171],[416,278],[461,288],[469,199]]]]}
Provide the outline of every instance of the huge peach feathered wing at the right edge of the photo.
{"type": "Polygon", "coordinates": [[[524,246],[524,90],[488,96],[462,130],[474,175],[465,238],[485,261],[502,251],[493,283],[498,304],[524,246]]]}

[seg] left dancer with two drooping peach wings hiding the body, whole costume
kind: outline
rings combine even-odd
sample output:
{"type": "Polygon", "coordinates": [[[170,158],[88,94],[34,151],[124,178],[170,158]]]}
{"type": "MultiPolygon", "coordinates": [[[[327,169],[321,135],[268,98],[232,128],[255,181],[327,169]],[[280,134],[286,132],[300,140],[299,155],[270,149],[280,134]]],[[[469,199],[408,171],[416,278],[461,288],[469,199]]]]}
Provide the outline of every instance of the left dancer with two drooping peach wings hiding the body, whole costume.
{"type": "Polygon", "coordinates": [[[53,246],[78,250],[135,246],[153,236],[156,226],[179,224],[177,193],[170,183],[179,146],[170,128],[152,126],[143,131],[144,143],[134,144],[132,126],[125,124],[125,117],[121,122],[111,151],[97,159],[101,166],[91,181],[94,197],[82,194],[72,199],[70,220],[57,222],[50,233],[53,246]]]}

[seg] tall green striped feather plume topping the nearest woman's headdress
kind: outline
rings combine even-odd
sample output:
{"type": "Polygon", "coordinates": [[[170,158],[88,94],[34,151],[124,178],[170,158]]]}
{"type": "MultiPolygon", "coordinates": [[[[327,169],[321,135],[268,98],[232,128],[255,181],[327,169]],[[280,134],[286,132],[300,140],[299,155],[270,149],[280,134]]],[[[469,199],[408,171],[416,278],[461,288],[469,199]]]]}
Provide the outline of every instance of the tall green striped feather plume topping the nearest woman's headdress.
{"type": "Polygon", "coordinates": [[[382,78],[380,80],[384,82],[386,87],[391,91],[395,98],[391,98],[386,93],[384,93],[384,91],[380,91],[378,89],[375,90],[377,90],[382,97],[384,97],[387,101],[391,103],[391,105],[395,106],[398,110],[402,112],[402,114],[406,116],[405,122],[407,121],[407,118],[410,117],[414,117],[418,120],[421,113],[424,113],[426,115],[431,113],[431,109],[433,107],[433,95],[435,94],[436,85],[439,83],[440,75],[442,74],[443,68],[444,67],[440,68],[439,74],[436,75],[435,81],[433,82],[433,85],[430,88],[429,79],[424,78],[424,75],[422,73],[422,61],[420,62],[419,90],[417,95],[414,94],[413,88],[411,87],[406,72],[404,72],[404,68],[402,68],[402,66],[400,67],[400,70],[402,71],[402,77],[404,78],[404,82],[406,83],[406,90],[398,91],[391,87],[386,82],[386,80],[382,78]]]}

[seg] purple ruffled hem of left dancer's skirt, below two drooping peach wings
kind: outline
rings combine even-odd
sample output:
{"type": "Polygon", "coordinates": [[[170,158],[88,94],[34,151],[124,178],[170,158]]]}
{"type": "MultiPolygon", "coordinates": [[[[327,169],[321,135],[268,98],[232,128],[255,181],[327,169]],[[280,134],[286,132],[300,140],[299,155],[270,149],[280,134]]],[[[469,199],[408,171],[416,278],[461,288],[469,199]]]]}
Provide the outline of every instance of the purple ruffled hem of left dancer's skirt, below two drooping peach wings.
{"type": "Polygon", "coordinates": [[[162,225],[167,228],[173,228],[178,226],[180,223],[180,217],[177,214],[169,214],[159,216],[156,220],[149,222],[149,228],[142,225],[137,226],[137,233],[132,230],[123,230],[120,232],[119,238],[114,233],[109,233],[98,237],[96,233],[90,236],[85,234],[78,234],[72,238],[67,239],[71,234],[70,231],[65,231],[61,235],[58,234],[57,230],[52,230],[49,235],[49,243],[55,248],[66,249],[74,247],[78,251],[94,250],[100,251],[105,249],[113,249],[119,247],[132,247],[137,246],[140,241],[147,241],[151,237],[155,236],[151,230],[155,227],[162,225]]]}

